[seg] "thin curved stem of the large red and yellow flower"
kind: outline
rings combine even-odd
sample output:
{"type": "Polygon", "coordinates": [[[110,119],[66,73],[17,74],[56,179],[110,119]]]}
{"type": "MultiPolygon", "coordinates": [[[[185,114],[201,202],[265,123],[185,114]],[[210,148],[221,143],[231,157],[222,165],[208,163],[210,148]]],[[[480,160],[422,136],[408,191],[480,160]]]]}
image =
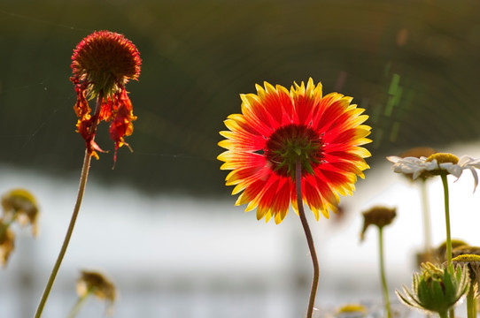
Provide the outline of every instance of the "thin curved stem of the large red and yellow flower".
{"type": "Polygon", "coordinates": [[[300,160],[297,160],[295,165],[295,182],[297,185],[297,205],[298,205],[298,215],[300,216],[300,221],[305,231],[306,242],[308,243],[308,248],[310,249],[310,256],[312,256],[312,262],[314,263],[314,280],[312,281],[312,289],[310,291],[310,299],[308,300],[308,309],[306,311],[306,318],[312,318],[314,314],[314,303],[315,295],[318,288],[318,280],[320,277],[320,269],[318,265],[317,253],[315,252],[314,238],[312,237],[312,231],[308,226],[306,221],[305,211],[302,201],[302,165],[300,160]]]}

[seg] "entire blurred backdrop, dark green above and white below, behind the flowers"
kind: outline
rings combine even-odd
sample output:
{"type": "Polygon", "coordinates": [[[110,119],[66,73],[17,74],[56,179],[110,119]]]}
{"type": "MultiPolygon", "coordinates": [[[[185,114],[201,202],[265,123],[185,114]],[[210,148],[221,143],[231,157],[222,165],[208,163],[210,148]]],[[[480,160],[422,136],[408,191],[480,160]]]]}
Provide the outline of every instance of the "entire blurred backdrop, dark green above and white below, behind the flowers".
{"type": "MultiPolygon", "coordinates": [[[[27,188],[42,212],[39,238],[19,229],[0,271],[0,316],[32,316],[65,236],[84,154],[71,56],[103,29],[125,34],[143,59],[127,86],[138,117],[128,137],[134,152],[120,148],[114,170],[112,153],[92,163],[45,316],[66,316],[80,269],[92,268],[120,289],[115,317],[305,313],[311,264],[298,218],[275,225],[245,215],[215,159],[222,121],[240,112],[239,94],[263,81],[290,87],[312,77],[370,116],[367,178],[342,199],[343,217],[310,217],[321,263],[317,306],[381,299],[374,231],[359,243],[360,211],[373,204],[399,208],[385,233],[387,269],[392,291],[409,285],[422,246],[419,193],[384,156],[416,146],[480,155],[479,9],[463,0],[0,1],[0,192],[27,188]]],[[[112,149],[106,126],[97,142],[112,149]]],[[[466,173],[453,186],[453,235],[475,245],[475,228],[465,227],[480,213],[472,183],[466,173]]],[[[430,193],[439,244],[441,185],[432,182],[430,193]]],[[[91,299],[79,317],[104,310],[91,299]]]]}

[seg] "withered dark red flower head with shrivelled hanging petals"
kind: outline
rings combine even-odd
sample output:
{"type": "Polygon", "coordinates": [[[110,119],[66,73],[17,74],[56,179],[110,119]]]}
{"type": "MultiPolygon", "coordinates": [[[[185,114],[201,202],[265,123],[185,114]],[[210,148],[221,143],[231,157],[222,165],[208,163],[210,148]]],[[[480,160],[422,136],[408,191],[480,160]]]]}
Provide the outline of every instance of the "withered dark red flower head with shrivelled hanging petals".
{"type": "Polygon", "coordinates": [[[86,141],[90,155],[98,157],[102,151],[94,141],[97,123],[105,120],[110,124],[110,137],[117,149],[128,146],[124,137],[133,133],[132,122],[136,119],[128,98],[125,84],[140,75],[140,53],[135,45],[122,34],[97,31],[84,38],[74,49],[70,80],[75,85],[77,102],[77,132],[86,141]],[[93,116],[88,99],[99,98],[100,109],[93,116]]]}

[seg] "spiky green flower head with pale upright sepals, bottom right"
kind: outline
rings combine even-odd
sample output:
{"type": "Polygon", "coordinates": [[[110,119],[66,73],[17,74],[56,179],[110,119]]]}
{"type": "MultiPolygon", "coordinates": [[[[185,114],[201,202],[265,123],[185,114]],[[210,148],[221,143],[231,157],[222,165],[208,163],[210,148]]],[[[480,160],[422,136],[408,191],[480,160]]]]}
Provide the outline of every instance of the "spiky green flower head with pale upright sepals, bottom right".
{"type": "Polygon", "coordinates": [[[403,286],[405,295],[396,292],[406,305],[446,317],[448,310],[467,294],[469,286],[467,269],[440,268],[427,262],[422,264],[422,274],[414,274],[412,291],[403,286]]]}

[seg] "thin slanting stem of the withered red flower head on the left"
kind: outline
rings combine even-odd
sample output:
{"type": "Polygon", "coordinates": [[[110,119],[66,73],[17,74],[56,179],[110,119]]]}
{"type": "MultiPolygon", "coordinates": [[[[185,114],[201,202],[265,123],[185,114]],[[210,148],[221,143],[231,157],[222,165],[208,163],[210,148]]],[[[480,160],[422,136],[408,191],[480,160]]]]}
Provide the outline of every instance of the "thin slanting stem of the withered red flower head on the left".
{"type": "MultiPolygon", "coordinates": [[[[95,136],[95,132],[97,131],[98,114],[100,113],[100,105],[102,103],[103,96],[104,95],[102,92],[100,92],[97,96],[97,107],[95,109],[95,114],[92,117],[93,124],[90,128],[90,133],[92,133],[93,136],[95,136]]],[[[40,318],[42,316],[43,307],[45,307],[45,303],[47,302],[47,299],[49,297],[51,287],[53,286],[53,283],[55,282],[55,278],[57,277],[58,269],[60,269],[60,265],[66,254],[66,248],[68,247],[68,243],[72,238],[75,222],[77,220],[77,216],[80,211],[81,200],[83,199],[83,193],[85,193],[85,187],[87,186],[87,178],[89,176],[90,161],[91,161],[91,155],[89,153],[89,150],[87,149],[85,151],[85,157],[83,158],[83,166],[81,167],[80,185],[79,185],[78,194],[77,194],[77,201],[75,202],[74,213],[72,214],[70,224],[68,225],[68,229],[66,231],[66,237],[60,249],[60,253],[58,254],[57,261],[55,262],[53,269],[51,269],[49,281],[47,282],[47,285],[45,286],[45,290],[43,291],[42,299],[40,299],[40,303],[36,308],[35,318],[40,318]]]]}

